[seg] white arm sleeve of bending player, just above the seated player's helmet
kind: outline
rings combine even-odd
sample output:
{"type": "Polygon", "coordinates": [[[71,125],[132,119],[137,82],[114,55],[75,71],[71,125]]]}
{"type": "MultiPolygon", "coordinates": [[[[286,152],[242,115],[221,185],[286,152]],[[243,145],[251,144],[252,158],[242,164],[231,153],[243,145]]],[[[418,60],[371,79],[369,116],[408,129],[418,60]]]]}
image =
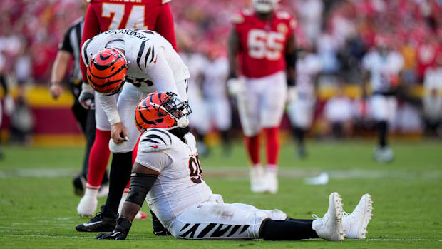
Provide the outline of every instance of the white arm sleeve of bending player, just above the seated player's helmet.
{"type": "Polygon", "coordinates": [[[145,72],[152,79],[157,91],[172,91],[180,96],[175,84],[172,68],[170,68],[168,61],[165,59],[164,49],[156,47],[155,50],[158,51],[155,62],[147,63],[145,72]]]}

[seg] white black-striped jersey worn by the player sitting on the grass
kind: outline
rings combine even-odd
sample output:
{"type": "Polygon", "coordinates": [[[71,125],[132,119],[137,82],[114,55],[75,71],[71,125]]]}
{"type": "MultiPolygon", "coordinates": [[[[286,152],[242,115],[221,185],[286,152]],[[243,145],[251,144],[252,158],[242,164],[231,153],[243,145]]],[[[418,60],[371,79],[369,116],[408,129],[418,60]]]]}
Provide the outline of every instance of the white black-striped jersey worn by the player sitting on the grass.
{"type": "Polygon", "coordinates": [[[209,200],[212,190],[201,176],[195,137],[185,141],[159,128],[145,131],[140,138],[136,162],[160,172],[146,200],[165,228],[183,211],[209,200]]]}

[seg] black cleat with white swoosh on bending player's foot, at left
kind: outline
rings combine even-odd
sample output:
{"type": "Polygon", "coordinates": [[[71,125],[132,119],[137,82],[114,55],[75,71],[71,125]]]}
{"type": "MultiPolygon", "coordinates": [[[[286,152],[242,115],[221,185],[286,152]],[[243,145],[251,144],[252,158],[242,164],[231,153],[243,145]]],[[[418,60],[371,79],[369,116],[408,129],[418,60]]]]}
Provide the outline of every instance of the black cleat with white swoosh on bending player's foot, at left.
{"type": "Polygon", "coordinates": [[[117,225],[118,215],[111,211],[106,212],[106,206],[101,206],[101,212],[96,213],[95,217],[88,223],[76,225],[78,232],[112,232],[117,225]]]}

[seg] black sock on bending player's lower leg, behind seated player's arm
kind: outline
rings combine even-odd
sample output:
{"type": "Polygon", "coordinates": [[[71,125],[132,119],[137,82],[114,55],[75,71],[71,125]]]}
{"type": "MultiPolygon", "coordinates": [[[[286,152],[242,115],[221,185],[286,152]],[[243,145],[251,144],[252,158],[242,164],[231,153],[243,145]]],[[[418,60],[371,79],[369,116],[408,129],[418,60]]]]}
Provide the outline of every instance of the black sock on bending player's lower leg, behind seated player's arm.
{"type": "Polygon", "coordinates": [[[125,153],[112,153],[111,173],[109,179],[109,193],[106,207],[118,213],[121,196],[130,180],[132,171],[132,151],[125,153]]]}

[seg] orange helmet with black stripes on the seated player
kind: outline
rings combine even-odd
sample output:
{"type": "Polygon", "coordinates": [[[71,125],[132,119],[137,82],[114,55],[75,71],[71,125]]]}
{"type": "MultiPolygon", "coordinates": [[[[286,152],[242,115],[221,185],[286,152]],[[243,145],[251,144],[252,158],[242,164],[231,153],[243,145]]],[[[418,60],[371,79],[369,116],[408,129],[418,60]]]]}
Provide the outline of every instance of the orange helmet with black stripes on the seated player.
{"type": "Polygon", "coordinates": [[[168,91],[153,92],[143,98],[135,110],[135,124],[141,132],[148,128],[170,130],[189,125],[187,116],[192,113],[187,101],[168,91]]]}

